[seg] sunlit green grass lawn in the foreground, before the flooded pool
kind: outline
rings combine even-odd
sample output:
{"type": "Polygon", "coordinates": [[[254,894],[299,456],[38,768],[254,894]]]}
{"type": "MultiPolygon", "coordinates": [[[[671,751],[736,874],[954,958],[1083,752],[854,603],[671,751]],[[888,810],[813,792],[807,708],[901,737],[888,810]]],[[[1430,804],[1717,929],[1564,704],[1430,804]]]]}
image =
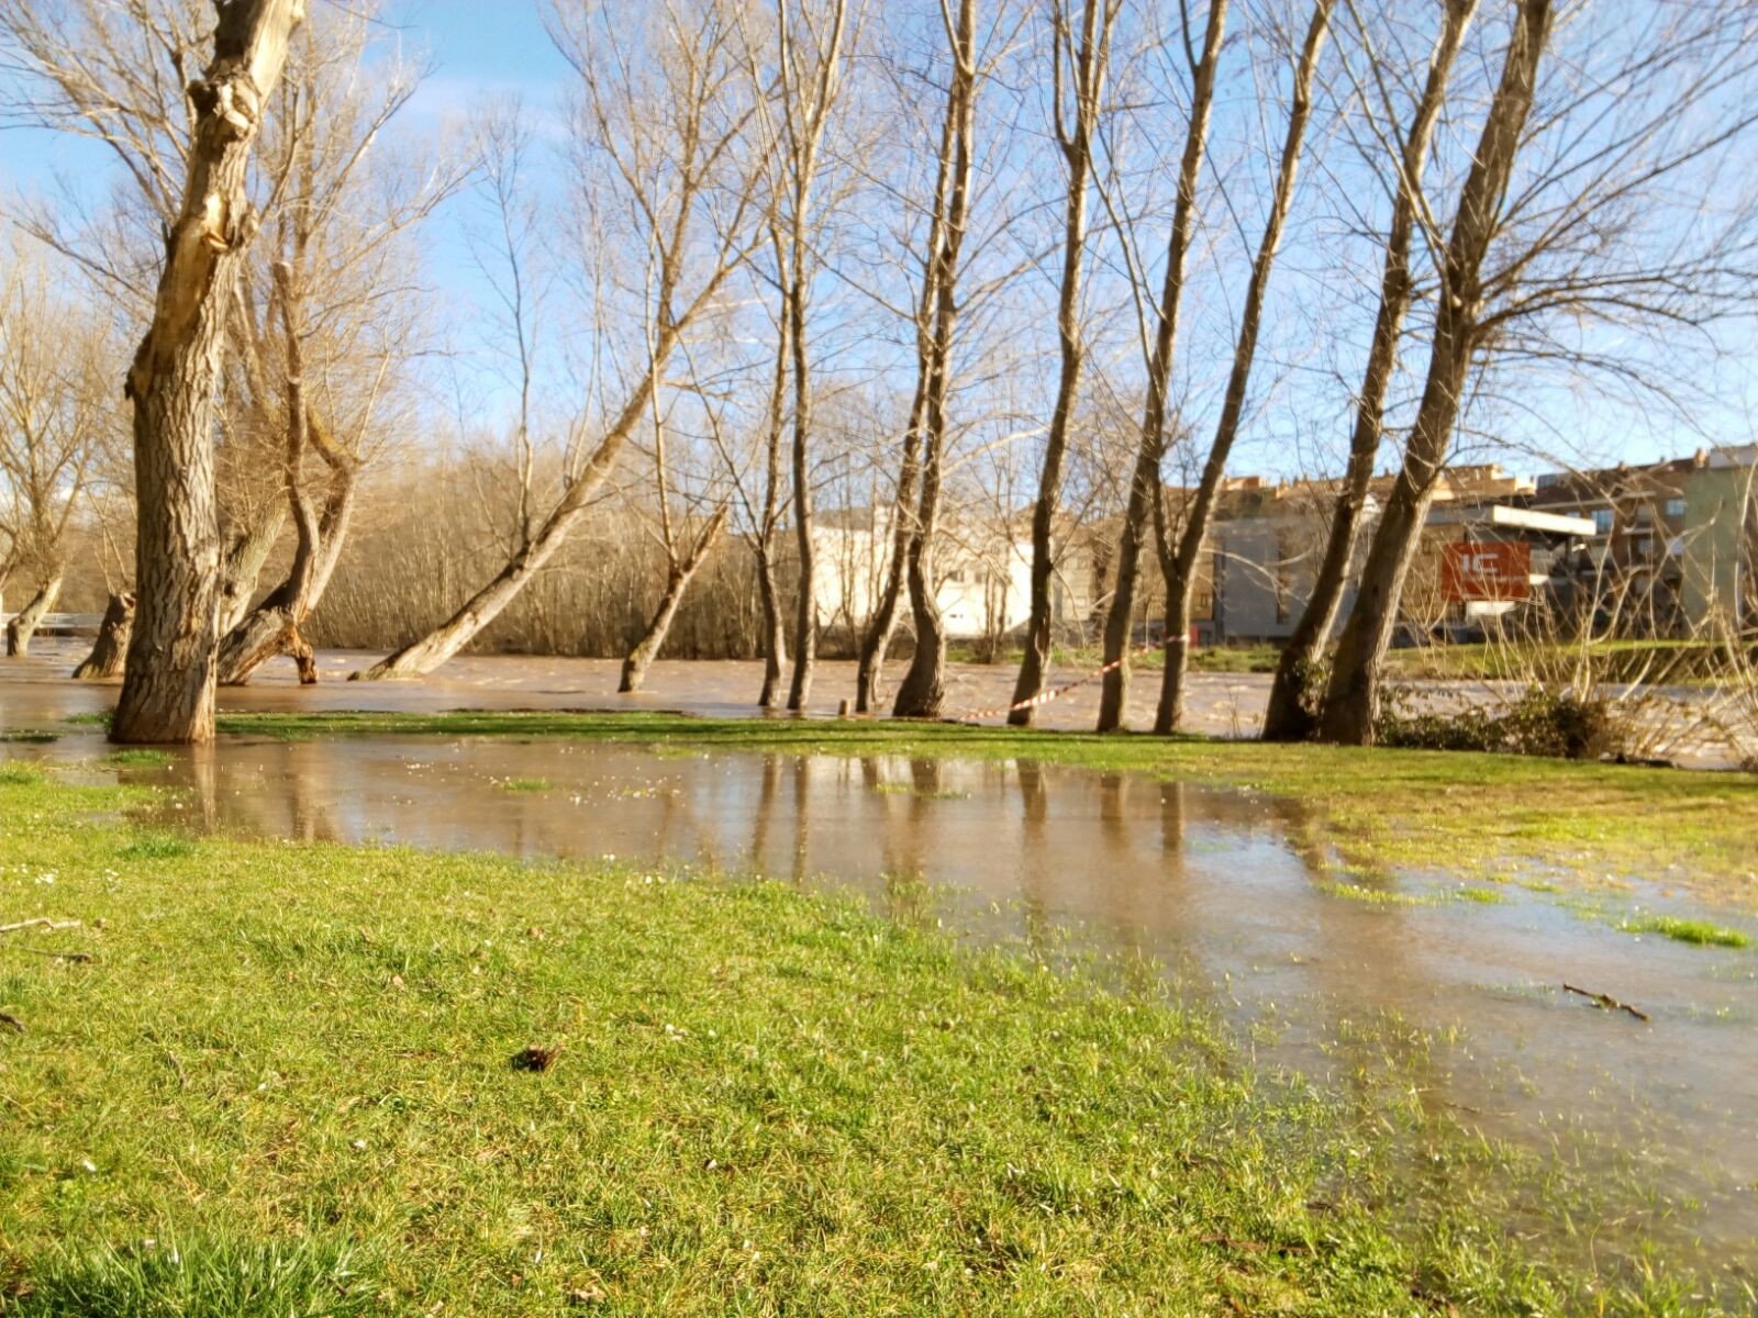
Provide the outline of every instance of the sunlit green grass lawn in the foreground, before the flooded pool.
{"type": "Polygon", "coordinates": [[[1201,1003],[775,884],[121,800],[0,777],[0,923],[79,921],[0,945],[9,1314],[1732,1311],[1519,1242],[1593,1207],[1491,1190],[1408,1079],[1253,1077],[1201,1003]]]}

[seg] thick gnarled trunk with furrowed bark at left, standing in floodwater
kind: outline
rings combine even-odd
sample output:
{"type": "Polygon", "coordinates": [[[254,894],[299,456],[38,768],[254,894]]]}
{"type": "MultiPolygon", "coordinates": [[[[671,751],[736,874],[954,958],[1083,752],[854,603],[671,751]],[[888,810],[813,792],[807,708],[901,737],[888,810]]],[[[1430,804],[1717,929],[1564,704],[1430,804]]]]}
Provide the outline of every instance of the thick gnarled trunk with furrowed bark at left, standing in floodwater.
{"type": "Polygon", "coordinates": [[[304,0],[220,5],[195,111],[183,206],[165,235],[153,322],[128,367],[134,402],[135,626],[114,742],[211,742],[220,525],[214,394],[237,271],[255,237],[246,193],[257,139],[304,0]]]}

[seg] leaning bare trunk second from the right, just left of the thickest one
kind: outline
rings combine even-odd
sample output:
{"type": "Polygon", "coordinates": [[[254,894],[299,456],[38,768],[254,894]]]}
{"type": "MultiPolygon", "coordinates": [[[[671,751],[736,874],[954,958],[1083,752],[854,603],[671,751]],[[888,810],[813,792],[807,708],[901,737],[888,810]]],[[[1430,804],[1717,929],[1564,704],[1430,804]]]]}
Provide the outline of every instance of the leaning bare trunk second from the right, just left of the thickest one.
{"type": "Polygon", "coordinates": [[[1385,235],[1380,309],[1373,322],[1368,367],[1361,381],[1361,402],[1355,408],[1355,429],[1348,441],[1348,467],[1343,473],[1343,487],[1338,490],[1336,508],[1331,515],[1331,534],[1326,540],[1324,559],[1318,562],[1311,594],[1306,597],[1306,608],[1301,610],[1301,617],[1276,661],[1269,706],[1264,712],[1266,742],[1301,742],[1311,733],[1311,710],[1308,708],[1313,696],[1311,685],[1324,647],[1331,640],[1331,629],[1336,626],[1343,587],[1348,583],[1348,569],[1355,559],[1368,485],[1373,480],[1373,462],[1380,453],[1384,436],[1385,395],[1398,367],[1398,339],[1403,334],[1405,315],[1410,311],[1413,292],[1410,237],[1415,228],[1422,170],[1427,163],[1435,121],[1447,100],[1447,79],[1475,12],[1477,0],[1449,2],[1447,21],[1435,44],[1435,54],[1429,58],[1427,83],[1405,137],[1398,197],[1385,235]]]}

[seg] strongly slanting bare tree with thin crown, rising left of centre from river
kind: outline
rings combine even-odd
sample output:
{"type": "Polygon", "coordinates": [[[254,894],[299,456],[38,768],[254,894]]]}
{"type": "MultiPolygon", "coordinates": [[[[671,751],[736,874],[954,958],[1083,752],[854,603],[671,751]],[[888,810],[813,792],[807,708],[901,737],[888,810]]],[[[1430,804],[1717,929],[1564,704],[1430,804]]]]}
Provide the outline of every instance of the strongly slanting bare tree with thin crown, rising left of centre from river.
{"type": "Polygon", "coordinates": [[[647,14],[645,26],[612,7],[552,12],[552,39],[580,79],[577,165],[592,193],[585,204],[615,204],[629,214],[645,253],[650,336],[642,334],[633,380],[598,443],[568,464],[559,497],[520,529],[501,571],[438,627],[355,677],[431,673],[519,596],[585,517],[684,337],[749,258],[756,169],[745,153],[751,107],[740,97],[728,9],[679,0],[647,14]]]}

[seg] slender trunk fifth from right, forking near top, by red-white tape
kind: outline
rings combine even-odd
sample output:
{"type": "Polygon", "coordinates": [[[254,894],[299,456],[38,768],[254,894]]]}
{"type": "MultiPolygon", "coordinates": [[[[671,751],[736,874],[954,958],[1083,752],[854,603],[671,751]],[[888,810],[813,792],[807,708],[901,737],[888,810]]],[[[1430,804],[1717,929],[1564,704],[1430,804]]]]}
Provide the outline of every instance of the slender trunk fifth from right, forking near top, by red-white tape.
{"type": "Polygon", "coordinates": [[[1037,473],[1037,503],[1032,508],[1032,603],[1025,624],[1025,655],[1020,661],[1020,678],[1013,687],[1014,708],[1007,722],[1030,728],[1037,706],[1034,699],[1044,689],[1050,671],[1050,652],[1055,643],[1051,617],[1051,587],[1057,569],[1051,545],[1057,504],[1062,499],[1062,466],[1069,450],[1069,427],[1074,424],[1074,406],[1079,397],[1081,367],[1086,344],[1081,339],[1081,283],[1086,260],[1086,188],[1092,179],[1092,139],[1099,127],[1101,97],[1104,95],[1106,65],[1111,47],[1111,21],[1116,7],[1109,0],[1085,0],[1081,5],[1079,46],[1072,51],[1074,125],[1062,123],[1060,70],[1065,37],[1062,11],[1057,11],[1057,139],[1067,165],[1069,192],[1062,220],[1062,288],[1057,301],[1057,339],[1062,350],[1062,373],[1057,378],[1055,411],[1050,413],[1050,434],[1044,439],[1044,464],[1037,473]]]}

